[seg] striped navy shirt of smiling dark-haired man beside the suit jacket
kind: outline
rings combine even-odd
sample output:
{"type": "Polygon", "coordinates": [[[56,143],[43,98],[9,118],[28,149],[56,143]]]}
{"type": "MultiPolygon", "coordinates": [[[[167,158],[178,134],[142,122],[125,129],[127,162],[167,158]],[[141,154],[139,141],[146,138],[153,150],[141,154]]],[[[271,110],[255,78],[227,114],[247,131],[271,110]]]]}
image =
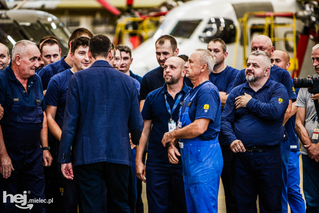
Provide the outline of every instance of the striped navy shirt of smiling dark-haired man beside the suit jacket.
{"type": "MultiPolygon", "coordinates": [[[[44,99],[48,105],[56,106],[55,121],[62,130],[66,97],[69,89],[70,78],[73,75],[70,69],[52,76],[44,99]]],[[[59,153],[60,141],[56,141],[56,154],[59,153]]]]}

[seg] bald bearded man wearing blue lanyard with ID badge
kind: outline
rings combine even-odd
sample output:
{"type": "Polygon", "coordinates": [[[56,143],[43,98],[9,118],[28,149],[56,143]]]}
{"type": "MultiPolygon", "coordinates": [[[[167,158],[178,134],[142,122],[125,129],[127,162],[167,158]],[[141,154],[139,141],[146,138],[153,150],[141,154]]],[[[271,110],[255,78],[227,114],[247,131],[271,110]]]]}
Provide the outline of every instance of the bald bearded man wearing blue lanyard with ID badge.
{"type": "Polygon", "coordinates": [[[183,82],[186,74],[184,64],[185,61],[176,56],[165,61],[165,84],[148,94],[142,110],[144,129],[140,143],[136,146],[135,170],[137,177],[144,182],[147,174],[149,212],[187,212],[179,149],[174,147],[174,153],[179,155],[176,158],[178,163],[171,164],[167,157],[167,147],[161,144],[164,133],[175,129],[182,100],[190,89],[183,82]],[[147,141],[145,170],[142,157],[147,141]]]}

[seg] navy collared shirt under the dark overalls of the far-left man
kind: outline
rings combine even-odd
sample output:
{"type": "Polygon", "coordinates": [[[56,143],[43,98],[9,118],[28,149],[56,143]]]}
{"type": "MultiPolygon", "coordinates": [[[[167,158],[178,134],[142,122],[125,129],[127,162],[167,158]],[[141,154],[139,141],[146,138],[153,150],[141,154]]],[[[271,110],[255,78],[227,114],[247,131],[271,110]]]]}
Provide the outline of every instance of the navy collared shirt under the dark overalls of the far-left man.
{"type": "Polygon", "coordinates": [[[0,72],[0,104],[4,108],[4,115],[0,121],[1,124],[7,119],[13,104],[13,95],[9,81],[13,83],[12,90],[15,90],[18,95],[18,97],[14,98],[19,98],[19,104],[23,106],[36,106],[34,90],[38,90],[42,110],[44,111],[47,108],[43,98],[42,84],[39,75],[35,74],[28,78],[28,89],[25,91],[23,85],[14,75],[10,63],[8,67],[0,72]]]}

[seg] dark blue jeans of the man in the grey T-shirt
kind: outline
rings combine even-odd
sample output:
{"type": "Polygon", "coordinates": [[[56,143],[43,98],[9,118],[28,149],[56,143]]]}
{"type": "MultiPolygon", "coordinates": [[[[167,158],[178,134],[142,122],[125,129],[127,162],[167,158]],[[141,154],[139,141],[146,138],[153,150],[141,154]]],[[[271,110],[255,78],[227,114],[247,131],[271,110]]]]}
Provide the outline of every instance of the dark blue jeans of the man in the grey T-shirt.
{"type": "Polygon", "coordinates": [[[319,163],[308,155],[302,154],[303,193],[306,200],[306,212],[319,212],[319,163]]]}

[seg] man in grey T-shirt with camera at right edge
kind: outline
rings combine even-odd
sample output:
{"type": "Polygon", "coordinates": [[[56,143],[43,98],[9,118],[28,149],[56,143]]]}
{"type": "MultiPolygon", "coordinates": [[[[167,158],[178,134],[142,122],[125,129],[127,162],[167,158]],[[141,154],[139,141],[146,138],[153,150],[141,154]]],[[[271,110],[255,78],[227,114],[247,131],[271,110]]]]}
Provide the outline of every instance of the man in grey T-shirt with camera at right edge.
{"type": "MultiPolygon", "coordinates": [[[[319,74],[319,44],[312,48],[311,58],[315,72],[319,74]]],[[[295,78],[295,86],[300,88],[295,106],[297,108],[296,115],[296,133],[302,143],[300,150],[302,156],[303,166],[303,192],[306,200],[306,212],[319,212],[319,144],[318,144],[318,132],[319,123],[318,116],[315,109],[315,101],[318,101],[319,94],[315,90],[318,90],[317,76],[304,79],[295,78]],[[313,85],[313,83],[315,86],[313,85]],[[298,83],[301,83],[298,85],[298,83]],[[310,85],[309,85],[310,84],[310,85]],[[312,86],[309,89],[307,87],[312,86]],[[308,155],[308,156],[307,156],[308,155]]]]}

